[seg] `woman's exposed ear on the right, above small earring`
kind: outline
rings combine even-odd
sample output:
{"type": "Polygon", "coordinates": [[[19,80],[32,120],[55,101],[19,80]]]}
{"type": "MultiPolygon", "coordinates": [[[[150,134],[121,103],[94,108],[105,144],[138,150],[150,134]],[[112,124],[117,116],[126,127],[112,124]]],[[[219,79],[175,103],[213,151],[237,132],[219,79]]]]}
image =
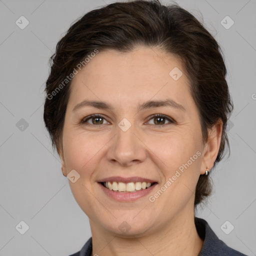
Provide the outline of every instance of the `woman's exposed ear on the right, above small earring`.
{"type": "Polygon", "coordinates": [[[208,129],[208,139],[203,149],[200,174],[205,173],[206,167],[209,171],[217,158],[222,135],[222,125],[222,120],[218,119],[217,123],[215,123],[211,129],[208,129]]]}

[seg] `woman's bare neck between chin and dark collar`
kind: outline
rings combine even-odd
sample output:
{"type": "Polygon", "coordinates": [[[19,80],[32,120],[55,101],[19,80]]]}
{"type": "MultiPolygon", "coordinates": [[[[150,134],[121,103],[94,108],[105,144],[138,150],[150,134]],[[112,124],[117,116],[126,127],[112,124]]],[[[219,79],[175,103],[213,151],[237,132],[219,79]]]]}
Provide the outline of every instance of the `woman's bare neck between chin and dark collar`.
{"type": "MultiPolygon", "coordinates": [[[[183,211],[184,212],[184,211],[183,211]]],[[[188,255],[198,256],[203,240],[194,224],[194,214],[179,212],[175,217],[146,235],[129,238],[116,236],[90,219],[92,255],[188,255]]]]}

